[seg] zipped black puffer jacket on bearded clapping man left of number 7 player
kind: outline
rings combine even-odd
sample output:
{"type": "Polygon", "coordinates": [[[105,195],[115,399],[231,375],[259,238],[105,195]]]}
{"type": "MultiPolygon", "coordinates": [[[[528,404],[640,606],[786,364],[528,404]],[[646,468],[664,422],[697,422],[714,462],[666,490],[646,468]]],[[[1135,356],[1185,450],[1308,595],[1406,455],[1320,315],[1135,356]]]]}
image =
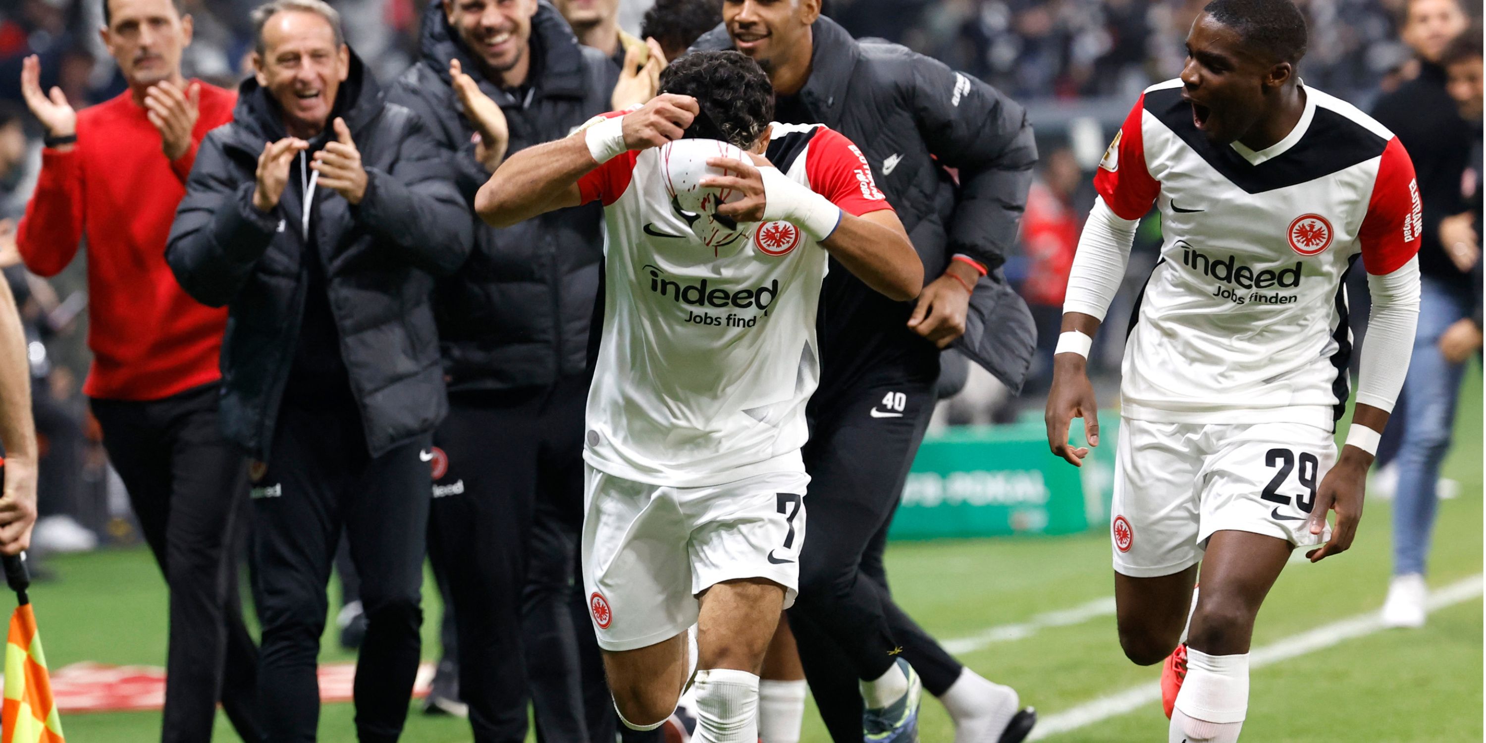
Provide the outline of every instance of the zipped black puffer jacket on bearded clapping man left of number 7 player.
{"type": "MultiPolygon", "coordinates": [[[[424,15],[422,59],[388,94],[415,110],[438,144],[458,150],[468,202],[490,174],[476,162],[474,128],[449,82],[449,59],[480,82],[505,113],[508,153],[566,137],[609,110],[618,68],[580,46],[545,1],[532,16],[532,68],[519,91],[480,79],[470,51],[444,19],[441,0],[424,15]]],[[[434,291],[438,337],[452,392],[547,386],[581,374],[603,257],[603,208],[559,210],[505,229],[476,220],[476,248],[434,291]]]]}

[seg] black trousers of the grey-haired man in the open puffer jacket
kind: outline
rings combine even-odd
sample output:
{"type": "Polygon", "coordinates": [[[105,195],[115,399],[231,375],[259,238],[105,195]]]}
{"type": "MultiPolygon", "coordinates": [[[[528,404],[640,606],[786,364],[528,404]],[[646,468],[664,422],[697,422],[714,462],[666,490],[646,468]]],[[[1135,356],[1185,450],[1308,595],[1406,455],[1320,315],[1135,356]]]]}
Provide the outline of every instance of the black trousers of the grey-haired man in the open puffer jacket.
{"type": "Polygon", "coordinates": [[[342,532],[367,617],[354,685],[357,736],[382,743],[401,734],[421,651],[431,438],[373,458],[355,407],[282,406],[270,461],[251,490],[265,743],[315,740],[325,585],[342,532]]]}

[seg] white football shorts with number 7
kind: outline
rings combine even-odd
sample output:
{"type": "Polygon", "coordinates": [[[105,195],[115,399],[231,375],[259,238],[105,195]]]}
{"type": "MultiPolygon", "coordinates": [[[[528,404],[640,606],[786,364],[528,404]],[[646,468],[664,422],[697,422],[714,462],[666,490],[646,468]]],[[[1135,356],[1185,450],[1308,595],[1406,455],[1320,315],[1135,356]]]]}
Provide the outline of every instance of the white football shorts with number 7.
{"type": "Polygon", "coordinates": [[[636,483],[584,465],[583,583],[606,651],[643,648],[697,623],[697,594],[739,578],[799,587],[804,473],[706,487],[636,483]]]}

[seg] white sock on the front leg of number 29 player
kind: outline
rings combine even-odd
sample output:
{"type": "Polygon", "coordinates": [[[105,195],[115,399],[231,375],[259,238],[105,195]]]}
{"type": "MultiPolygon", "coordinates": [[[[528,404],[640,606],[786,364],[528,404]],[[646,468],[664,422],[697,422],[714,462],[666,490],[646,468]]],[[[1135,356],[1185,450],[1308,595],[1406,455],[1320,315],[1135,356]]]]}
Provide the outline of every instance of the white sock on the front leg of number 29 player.
{"type": "Polygon", "coordinates": [[[1248,654],[1208,655],[1187,648],[1187,678],[1171,713],[1169,740],[1235,743],[1248,716],[1248,654]]]}

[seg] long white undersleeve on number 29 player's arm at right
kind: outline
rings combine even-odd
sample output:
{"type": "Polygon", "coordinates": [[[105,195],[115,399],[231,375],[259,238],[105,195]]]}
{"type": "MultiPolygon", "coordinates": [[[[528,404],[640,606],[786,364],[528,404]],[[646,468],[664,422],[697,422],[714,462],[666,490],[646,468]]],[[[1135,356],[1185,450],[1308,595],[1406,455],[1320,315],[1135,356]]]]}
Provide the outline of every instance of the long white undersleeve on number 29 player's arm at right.
{"type": "Polygon", "coordinates": [[[1419,324],[1419,257],[1382,276],[1367,275],[1373,309],[1357,374],[1357,403],[1392,412],[1409,373],[1413,333],[1419,324]]]}

